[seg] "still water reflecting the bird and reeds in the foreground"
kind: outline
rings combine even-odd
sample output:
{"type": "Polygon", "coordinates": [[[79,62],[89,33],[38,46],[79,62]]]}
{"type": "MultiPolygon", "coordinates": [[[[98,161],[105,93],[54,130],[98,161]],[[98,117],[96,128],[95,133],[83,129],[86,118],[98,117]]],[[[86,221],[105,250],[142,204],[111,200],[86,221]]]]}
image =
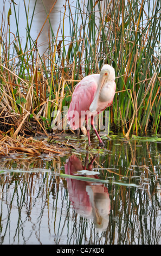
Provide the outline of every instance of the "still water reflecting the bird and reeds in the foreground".
{"type": "Polygon", "coordinates": [[[1,158],[0,243],[160,244],[160,153],[113,137],[96,154],[1,158]]]}

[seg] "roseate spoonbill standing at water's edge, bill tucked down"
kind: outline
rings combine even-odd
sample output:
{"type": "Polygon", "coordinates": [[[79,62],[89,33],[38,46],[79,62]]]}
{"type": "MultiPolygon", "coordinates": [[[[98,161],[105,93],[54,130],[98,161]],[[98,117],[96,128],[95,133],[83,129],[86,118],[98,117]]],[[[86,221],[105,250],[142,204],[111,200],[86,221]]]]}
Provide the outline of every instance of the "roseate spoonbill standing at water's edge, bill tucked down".
{"type": "Polygon", "coordinates": [[[84,77],[75,87],[68,110],[68,124],[73,130],[76,130],[86,120],[89,145],[91,145],[89,118],[91,118],[91,125],[99,139],[99,144],[104,145],[95,129],[94,115],[111,105],[115,88],[114,68],[108,64],[102,66],[100,74],[84,77]]]}

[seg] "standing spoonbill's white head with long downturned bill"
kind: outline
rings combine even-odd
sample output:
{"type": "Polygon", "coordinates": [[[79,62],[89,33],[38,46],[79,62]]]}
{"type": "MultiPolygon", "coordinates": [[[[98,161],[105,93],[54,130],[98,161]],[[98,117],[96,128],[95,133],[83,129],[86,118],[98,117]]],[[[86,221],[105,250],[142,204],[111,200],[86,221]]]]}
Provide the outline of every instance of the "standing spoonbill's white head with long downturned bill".
{"type": "Polygon", "coordinates": [[[114,68],[108,64],[105,64],[104,66],[102,66],[102,69],[100,72],[99,85],[96,90],[94,100],[92,101],[91,106],[89,107],[89,111],[91,111],[91,112],[96,111],[102,87],[104,87],[104,85],[107,83],[107,81],[114,81],[114,80],[115,80],[114,68]]]}

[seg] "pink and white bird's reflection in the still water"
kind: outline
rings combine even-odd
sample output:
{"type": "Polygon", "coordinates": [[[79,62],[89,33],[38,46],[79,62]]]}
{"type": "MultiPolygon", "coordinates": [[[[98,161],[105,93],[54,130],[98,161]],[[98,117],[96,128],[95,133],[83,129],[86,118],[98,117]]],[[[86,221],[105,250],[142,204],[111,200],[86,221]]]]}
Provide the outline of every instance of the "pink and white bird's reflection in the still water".
{"type": "MultiPolygon", "coordinates": [[[[78,157],[72,155],[66,161],[65,173],[74,175],[79,170],[92,170],[93,162],[87,164],[88,155],[86,157],[85,166],[78,157]]],[[[98,175],[86,175],[90,178],[98,179],[98,175]]],[[[67,179],[69,200],[76,212],[86,218],[93,218],[95,227],[98,231],[107,229],[109,214],[111,209],[110,197],[107,187],[104,184],[90,181],[82,181],[77,179],[67,179]]]]}

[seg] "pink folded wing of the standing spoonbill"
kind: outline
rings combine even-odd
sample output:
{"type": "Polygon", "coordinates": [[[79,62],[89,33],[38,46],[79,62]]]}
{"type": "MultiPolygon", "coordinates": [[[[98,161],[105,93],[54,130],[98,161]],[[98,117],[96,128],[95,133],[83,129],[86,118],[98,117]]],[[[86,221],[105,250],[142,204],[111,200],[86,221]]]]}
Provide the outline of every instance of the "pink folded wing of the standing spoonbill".
{"type": "Polygon", "coordinates": [[[73,130],[78,129],[85,120],[85,116],[81,115],[81,111],[89,110],[97,87],[98,84],[90,76],[83,78],[75,87],[68,110],[68,121],[73,130]]]}

